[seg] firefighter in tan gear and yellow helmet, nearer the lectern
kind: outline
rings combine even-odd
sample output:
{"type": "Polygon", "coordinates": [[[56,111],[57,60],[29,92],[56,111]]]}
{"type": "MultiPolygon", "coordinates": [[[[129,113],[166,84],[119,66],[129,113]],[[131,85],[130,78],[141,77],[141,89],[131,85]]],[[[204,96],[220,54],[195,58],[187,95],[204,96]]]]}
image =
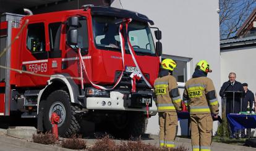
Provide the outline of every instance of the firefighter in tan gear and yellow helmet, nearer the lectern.
{"type": "Polygon", "coordinates": [[[213,118],[218,118],[219,113],[215,87],[207,78],[208,72],[211,72],[210,65],[206,60],[200,60],[183,93],[183,101],[190,109],[193,151],[211,150],[213,118]]]}

